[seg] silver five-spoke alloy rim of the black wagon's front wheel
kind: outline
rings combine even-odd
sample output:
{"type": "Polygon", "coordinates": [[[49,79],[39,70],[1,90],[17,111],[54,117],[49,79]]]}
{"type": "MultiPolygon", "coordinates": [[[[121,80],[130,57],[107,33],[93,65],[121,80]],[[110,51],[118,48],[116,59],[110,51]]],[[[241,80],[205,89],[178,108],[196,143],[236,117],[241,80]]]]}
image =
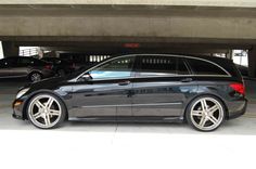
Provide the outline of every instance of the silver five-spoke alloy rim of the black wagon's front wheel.
{"type": "Polygon", "coordinates": [[[39,128],[54,127],[62,116],[62,107],[51,95],[38,95],[29,104],[28,116],[31,122],[39,128]]]}

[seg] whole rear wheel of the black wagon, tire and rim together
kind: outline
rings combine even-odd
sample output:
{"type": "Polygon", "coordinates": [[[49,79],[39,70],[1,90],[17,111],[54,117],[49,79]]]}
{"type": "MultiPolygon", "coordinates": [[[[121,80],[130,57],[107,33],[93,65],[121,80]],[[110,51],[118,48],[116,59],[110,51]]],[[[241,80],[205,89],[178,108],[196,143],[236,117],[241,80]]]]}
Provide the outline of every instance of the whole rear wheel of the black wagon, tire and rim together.
{"type": "Polygon", "coordinates": [[[185,120],[199,131],[214,131],[220,127],[226,117],[222,102],[213,95],[194,99],[185,110],[185,120]]]}

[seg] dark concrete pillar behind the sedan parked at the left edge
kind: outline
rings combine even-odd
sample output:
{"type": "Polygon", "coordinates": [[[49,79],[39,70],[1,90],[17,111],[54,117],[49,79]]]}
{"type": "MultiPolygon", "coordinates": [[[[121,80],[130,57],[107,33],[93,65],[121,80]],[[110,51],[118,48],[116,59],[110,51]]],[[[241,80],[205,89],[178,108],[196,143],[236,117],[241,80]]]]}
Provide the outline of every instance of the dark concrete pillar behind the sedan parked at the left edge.
{"type": "Polygon", "coordinates": [[[12,41],[3,41],[2,50],[4,57],[18,56],[18,47],[12,41]]]}

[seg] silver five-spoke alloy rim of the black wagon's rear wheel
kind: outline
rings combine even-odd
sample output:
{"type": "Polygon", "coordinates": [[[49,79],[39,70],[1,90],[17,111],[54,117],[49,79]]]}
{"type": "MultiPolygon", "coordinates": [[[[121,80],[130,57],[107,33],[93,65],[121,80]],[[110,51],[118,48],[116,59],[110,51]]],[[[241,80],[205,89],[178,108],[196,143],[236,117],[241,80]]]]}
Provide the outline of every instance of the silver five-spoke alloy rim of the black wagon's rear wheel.
{"type": "Polygon", "coordinates": [[[220,126],[225,113],[222,105],[214,98],[202,98],[191,108],[191,121],[202,131],[210,131],[220,126]]]}

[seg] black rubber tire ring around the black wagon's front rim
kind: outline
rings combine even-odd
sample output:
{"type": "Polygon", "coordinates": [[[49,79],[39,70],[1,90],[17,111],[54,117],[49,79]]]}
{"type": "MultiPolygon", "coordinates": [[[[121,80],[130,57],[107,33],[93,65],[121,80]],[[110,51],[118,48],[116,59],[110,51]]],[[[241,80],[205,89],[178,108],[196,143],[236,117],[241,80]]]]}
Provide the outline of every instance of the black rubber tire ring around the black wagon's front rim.
{"type": "Polygon", "coordinates": [[[29,102],[28,102],[27,107],[26,107],[27,119],[28,119],[35,127],[37,127],[37,128],[39,128],[39,129],[54,129],[54,128],[60,127],[60,126],[65,121],[65,119],[66,119],[66,114],[67,114],[67,112],[66,112],[66,106],[64,105],[63,101],[62,101],[59,96],[56,96],[55,94],[52,94],[52,93],[38,93],[38,94],[31,96],[31,99],[29,99],[29,102]],[[33,122],[33,120],[30,119],[30,116],[29,116],[29,114],[28,114],[29,105],[31,104],[31,101],[33,101],[35,98],[39,96],[39,95],[50,95],[50,96],[54,98],[54,99],[59,102],[59,104],[61,105],[61,109],[62,109],[61,118],[59,119],[59,121],[57,121],[53,127],[50,127],[50,128],[42,128],[42,127],[39,127],[39,126],[35,125],[35,123],[33,122]]]}

